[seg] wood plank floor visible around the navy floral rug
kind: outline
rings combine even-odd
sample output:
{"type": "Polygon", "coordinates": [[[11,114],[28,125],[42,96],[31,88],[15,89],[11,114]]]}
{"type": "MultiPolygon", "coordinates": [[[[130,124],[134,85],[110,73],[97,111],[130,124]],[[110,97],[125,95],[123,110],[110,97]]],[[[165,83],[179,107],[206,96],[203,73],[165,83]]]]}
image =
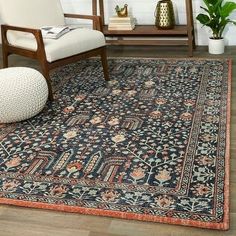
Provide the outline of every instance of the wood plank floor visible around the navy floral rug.
{"type": "MultiPolygon", "coordinates": [[[[112,47],[109,56],[117,57],[186,57],[185,47],[112,47]]],[[[194,57],[219,57],[198,47],[194,57]]],[[[228,47],[221,57],[233,58],[231,113],[231,181],[230,230],[215,231],[187,226],[86,216],[49,210],[0,205],[0,236],[235,236],[236,235],[236,47],[228,47]]],[[[22,57],[11,56],[11,66],[37,64],[22,57]]],[[[2,60],[0,61],[2,62],[2,60]]],[[[2,64],[2,63],[1,63],[2,64]]]]}

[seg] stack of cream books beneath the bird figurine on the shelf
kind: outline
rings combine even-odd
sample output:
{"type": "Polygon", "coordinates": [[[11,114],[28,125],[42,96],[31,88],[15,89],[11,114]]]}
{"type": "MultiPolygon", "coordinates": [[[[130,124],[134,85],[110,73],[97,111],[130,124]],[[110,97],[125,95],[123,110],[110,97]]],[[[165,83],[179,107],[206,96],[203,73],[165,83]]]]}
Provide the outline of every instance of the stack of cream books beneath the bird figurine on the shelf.
{"type": "Polygon", "coordinates": [[[131,16],[109,18],[108,30],[133,30],[135,28],[135,18],[131,16]]]}

